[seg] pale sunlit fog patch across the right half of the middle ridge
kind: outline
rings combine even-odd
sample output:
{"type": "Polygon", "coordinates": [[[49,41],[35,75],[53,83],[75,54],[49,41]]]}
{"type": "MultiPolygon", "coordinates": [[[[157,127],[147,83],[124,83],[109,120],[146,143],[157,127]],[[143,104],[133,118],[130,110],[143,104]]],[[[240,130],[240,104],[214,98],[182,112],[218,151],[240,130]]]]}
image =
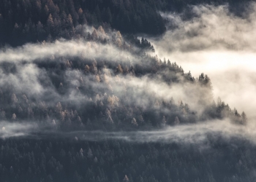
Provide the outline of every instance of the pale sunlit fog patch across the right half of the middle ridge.
{"type": "MultiPolygon", "coordinates": [[[[162,74],[167,75],[170,73],[164,72],[162,74]]],[[[129,100],[126,100],[127,104],[135,104],[135,106],[141,106],[146,109],[154,106],[152,100],[161,102],[162,100],[169,101],[174,98],[177,103],[181,100],[184,103],[189,103],[192,110],[197,111],[198,114],[201,114],[206,107],[205,104],[199,103],[198,100],[202,97],[201,94],[208,92],[208,90],[198,84],[182,81],[180,83],[167,84],[162,80],[161,76],[152,78],[150,75],[140,77],[129,75],[113,76],[108,79],[113,87],[113,94],[121,99],[126,96],[129,97],[129,100]],[[132,90],[130,95],[126,95],[127,90],[132,90]]],[[[212,100],[209,98],[208,102],[211,103],[212,100]]]]}

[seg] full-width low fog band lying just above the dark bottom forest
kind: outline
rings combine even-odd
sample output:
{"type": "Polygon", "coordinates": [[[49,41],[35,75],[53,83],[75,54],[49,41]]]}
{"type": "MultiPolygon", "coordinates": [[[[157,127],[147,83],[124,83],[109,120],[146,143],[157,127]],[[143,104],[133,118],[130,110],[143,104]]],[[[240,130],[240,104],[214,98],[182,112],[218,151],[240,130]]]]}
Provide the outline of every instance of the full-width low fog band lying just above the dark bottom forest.
{"type": "Polygon", "coordinates": [[[6,138],[34,138],[48,139],[66,138],[71,141],[105,141],[120,140],[132,143],[181,143],[198,144],[210,147],[211,141],[222,138],[232,144],[233,138],[249,141],[256,144],[255,124],[241,126],[233,124],[229,119],[208,120],[198,124],[183,124],[175,127],[165,127],[163,130],[132,131],[132,132],[105,132],[102,130],[61,132],[45,124],[32,124],[28,122],[0,122],[0,137],[6,138]]]}

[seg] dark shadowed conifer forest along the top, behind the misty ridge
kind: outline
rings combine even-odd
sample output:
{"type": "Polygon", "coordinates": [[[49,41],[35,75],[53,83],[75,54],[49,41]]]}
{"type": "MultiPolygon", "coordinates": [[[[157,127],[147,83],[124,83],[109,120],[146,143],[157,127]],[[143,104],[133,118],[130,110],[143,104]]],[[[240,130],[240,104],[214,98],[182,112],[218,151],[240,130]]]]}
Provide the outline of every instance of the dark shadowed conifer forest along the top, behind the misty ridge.
{"type": "Polygon", "coordinates": [[[22,45],[28,41],[71,39],[79,36],[78,25],[116,28],[122,33],[165,32],[165,20],[159,11],[185,11],[191,17],[189,4],[230,4],[242,15],[246,5],[237,0],[3,0],[0,1],[0,44],[22,45]]]}

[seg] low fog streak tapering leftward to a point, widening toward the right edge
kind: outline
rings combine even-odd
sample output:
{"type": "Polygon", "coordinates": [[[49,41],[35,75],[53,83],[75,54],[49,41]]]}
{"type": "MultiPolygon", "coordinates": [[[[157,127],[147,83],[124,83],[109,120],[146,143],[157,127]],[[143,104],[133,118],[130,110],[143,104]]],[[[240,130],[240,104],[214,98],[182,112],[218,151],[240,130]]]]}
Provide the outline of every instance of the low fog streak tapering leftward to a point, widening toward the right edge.
{"type": "Polygon", "coordinates": [[[134,131],[134,132],[103,132],[103,131],[74,131],[63,133],[69,138],[78,138],[82,141],[105,141],[106,139],[121,140],[135,143],[185,143],[208,145],[211,140],[219,137],[225,141],[234,138],[256,144],[256,126],[249,124],[242,126],[233,124],[229,119],[208,120],[197,124],[182,124],[175,127],[166,127],[164,130],[134,131]]]}

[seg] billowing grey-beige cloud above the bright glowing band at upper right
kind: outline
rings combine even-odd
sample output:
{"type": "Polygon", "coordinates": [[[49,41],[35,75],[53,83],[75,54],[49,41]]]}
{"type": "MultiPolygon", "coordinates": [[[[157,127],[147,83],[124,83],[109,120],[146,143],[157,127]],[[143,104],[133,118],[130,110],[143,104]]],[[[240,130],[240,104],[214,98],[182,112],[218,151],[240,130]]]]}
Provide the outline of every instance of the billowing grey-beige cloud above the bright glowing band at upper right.
{"type": "MultiPolygon", "coordinates": [[[[162,48],[167,51],[191,52],[200,50],[255,50],[255,3],[245,17],[233,15],[227,5],[191,6],[194,15],[189,20],[172,13],[161,13],[177,26],[162,37],[162,48]]],[[[155,44],[159,45],[157,42],[155,44]]],[[[158,50],[160,51],[160,50],[158,50]]]]}

